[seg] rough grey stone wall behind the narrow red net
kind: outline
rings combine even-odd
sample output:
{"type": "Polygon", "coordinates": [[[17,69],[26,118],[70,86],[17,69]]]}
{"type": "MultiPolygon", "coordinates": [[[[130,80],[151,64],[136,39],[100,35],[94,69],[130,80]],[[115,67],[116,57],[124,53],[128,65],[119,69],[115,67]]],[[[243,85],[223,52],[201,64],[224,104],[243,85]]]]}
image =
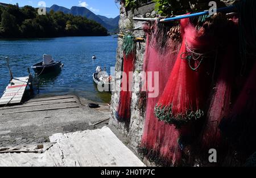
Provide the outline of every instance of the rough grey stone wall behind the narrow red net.
{"type": "MultiPolygon", "coordinates": [[[[146,18],[146,17],[154,17],[155,4],[152,3],[150,5],[146,5],[135,9],[134,11],[125,11],[125,8],[121,6],[120,9],[120,20],[119,20],[119,29],[121,32],[125,32],[125,29],[130,29],[134,27],[142,26],[142,22],[134,21],[134,17],[146,18]]],[[[145,33],[143,30],[134,31],[133,35],[136,37],[145,37],[145,33]]],[[[121,86],[121,76],[120,71],[122,69],[122,44],[123,40],[118,39],[118,49],[117,49],[117,62],[115,65],[115,78],[117,79],[115,85],[121,86]],[[118,74],[119,73],[119,74],[118,74]]],[[[123,135],[125,135],[129,139],[129,146],[137,151],[137,147],[139,143],[141,143],[141,137],[143,133],[144,126],[144,112],[138,107],[139,100],[139,72],[143,69],[143,60],[144,60],[144,52],[145,52],[146,43],[137,43],[137,52],[136,52],[136,61],[135,61],[135,70],[133,75],[133,96],[131,103],[131,120],[130,123],[122,123],[118,122],[115,118],[115,112],[118,109],[119,104],[119,92],[113,92],[112,102],[111,102],[111,111],[112,118],[110,119],[110,125],[114,125],[115,128],[119,130],[123,135]]]]}

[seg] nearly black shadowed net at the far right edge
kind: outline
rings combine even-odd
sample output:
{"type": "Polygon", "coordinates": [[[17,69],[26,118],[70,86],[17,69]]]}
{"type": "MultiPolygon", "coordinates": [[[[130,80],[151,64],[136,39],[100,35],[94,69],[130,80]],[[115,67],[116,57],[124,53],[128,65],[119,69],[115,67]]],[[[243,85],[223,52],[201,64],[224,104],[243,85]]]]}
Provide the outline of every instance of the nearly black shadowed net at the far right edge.
{"type": "Polygon", "coordinates": [[[221,132],[245,156],[256,150],[256,63],[229,117],[220,124],[221,132]]]}

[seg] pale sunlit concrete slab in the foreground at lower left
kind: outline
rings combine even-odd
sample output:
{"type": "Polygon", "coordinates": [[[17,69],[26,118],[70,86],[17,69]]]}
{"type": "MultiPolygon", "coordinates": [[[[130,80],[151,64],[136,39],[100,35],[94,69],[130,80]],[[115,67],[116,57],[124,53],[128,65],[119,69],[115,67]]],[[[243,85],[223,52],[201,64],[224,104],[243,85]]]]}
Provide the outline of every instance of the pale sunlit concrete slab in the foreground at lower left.
{"type": "Polygon", "coordinates": [[[84,132],[54,134],[50,137],[50,141],[53,143],[52,146],[45,147],[46,151],[43,154],[29,152],[1,154],[0,151],[0,166],[144,166],[141,160],[119,141],[108,127],[84,132]]]}

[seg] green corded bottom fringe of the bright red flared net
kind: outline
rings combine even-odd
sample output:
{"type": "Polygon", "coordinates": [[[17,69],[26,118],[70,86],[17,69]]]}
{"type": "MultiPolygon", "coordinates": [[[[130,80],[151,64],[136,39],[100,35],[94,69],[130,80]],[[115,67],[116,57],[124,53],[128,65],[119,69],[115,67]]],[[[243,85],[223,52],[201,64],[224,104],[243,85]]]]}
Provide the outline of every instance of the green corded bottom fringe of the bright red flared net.
{"type": "Polygon", "coordinates": [[[155,106],[154,113],[159,121],[164,121],[167,124],[174,124],[176,126],[184,125],[188,121],[197,120],[204,116],[204,112],[200,109],[197,111],[191,111],[191,109],[188,109],[184,114],[174,115],[172,113],[172,105],[164,106],[158,104],[155,106]]]}

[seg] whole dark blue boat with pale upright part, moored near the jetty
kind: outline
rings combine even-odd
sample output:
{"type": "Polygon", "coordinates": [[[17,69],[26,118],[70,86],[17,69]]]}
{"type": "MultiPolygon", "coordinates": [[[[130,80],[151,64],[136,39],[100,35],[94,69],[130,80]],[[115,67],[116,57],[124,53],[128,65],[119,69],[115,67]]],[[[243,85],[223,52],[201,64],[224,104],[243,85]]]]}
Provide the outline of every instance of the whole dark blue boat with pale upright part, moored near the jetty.
{"type": "Polygon", "coordinates": [[[51,56],[44,54],[43,61],[33,65],[32,69],[36,74],[42,75],[47,73],[58,73],[62,67],[63,64],[61,64],[61,61],[53,61],[51,56]]]}

